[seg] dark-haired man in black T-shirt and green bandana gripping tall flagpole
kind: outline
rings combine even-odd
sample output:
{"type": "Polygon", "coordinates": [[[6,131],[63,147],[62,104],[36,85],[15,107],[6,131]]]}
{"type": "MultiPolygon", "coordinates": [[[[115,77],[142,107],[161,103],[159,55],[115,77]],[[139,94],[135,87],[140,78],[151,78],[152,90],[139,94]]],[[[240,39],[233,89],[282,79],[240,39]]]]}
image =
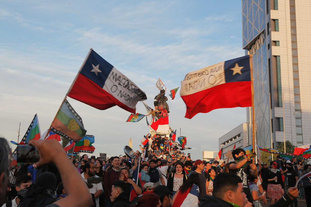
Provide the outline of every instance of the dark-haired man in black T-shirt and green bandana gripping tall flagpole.
{"type": "Polygon", "coordinates": [[[257,166],[253,163],[248,165],[247,161],[250,161],[251,158],[254,158],[256,156],[256,153],[251,152],[250,154],[248,154],[247,157],[245,157],[245,150],[238,148],[232,151],[232,156],[234,158],[234,162],[228,163],[228,171],[229,173],[235,174],[242,179],[244,193],[246,194],[248,201],[253,203],[253,198],[249,190],[247,177],[249,174],[257,177],[258,169],[257,166]]]}

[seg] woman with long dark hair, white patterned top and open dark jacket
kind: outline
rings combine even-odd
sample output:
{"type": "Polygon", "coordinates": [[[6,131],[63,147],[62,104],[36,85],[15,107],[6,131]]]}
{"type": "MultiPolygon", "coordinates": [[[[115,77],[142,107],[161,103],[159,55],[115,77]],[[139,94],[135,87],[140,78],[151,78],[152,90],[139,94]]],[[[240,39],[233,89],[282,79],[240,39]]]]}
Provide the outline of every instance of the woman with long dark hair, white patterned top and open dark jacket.
{"type": "Polygon", "coordinates": [[[169,188],[169,191],[173,192],[173,195],[171,196],[172,198],[178,191],[179,187],[188,179],[188,176],[183,169],[184,167],[185,166],[182,162],[177,162],[172,174],[167,178],[167,187],[169,188]]]}

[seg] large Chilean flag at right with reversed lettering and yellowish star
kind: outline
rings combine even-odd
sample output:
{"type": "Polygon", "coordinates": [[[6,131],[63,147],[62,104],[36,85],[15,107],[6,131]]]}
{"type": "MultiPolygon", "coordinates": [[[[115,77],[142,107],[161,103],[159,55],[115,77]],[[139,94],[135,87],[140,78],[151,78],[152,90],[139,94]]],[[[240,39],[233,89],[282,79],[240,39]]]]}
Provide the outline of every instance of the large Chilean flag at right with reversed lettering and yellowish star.
{"type": "Polygon", "coordinates": [[[217,108],[252,106],[251,64],[247,55],[188,73],[180,88],[187,106],[185,117],[217,108]]]}

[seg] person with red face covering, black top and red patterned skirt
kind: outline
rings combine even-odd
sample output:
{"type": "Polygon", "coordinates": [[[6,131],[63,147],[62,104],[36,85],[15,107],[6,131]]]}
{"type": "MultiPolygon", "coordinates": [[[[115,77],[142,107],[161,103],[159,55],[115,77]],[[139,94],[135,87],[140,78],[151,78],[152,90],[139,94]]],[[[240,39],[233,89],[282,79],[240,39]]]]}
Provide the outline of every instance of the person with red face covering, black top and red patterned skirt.
{"type": "Polygon", "coordinates": [[[278,201],[284,194],[284,182],[280,171],[278,171],[279,165],[275,161],[270,163],[271,170],[267,173],[266,182],[267,186],[267,197],[271,198],[271,204],[278,201]]]}

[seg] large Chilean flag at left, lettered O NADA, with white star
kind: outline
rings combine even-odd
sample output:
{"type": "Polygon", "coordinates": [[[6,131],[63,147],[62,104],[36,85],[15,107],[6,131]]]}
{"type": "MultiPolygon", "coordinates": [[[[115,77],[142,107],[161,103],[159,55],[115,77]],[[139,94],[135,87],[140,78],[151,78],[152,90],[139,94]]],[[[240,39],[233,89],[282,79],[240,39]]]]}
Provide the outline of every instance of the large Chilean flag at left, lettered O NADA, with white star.
{"type": "Polygon", "coordinates": [[[100,110],[117,105],[130,113],[136,113],[138,101],[147,99],[137,85],[93,49],[87,55],[67,95],[100,110]]]}

